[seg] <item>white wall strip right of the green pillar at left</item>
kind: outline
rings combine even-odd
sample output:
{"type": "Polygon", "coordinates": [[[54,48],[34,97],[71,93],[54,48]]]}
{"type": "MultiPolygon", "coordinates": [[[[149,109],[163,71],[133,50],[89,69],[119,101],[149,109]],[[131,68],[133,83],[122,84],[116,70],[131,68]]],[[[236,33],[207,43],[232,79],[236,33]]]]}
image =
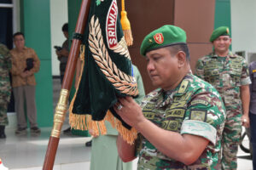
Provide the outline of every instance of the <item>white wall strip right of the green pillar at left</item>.
{"type": "Polygon", "coordinates": [[[60,76],[59,60],[55,54],[53,46],[61,46],[66,40],[61,28],[67,22],[67,0],[50,0],[50,32],[51,32],[51,67],[52,75],[60,76]]]}

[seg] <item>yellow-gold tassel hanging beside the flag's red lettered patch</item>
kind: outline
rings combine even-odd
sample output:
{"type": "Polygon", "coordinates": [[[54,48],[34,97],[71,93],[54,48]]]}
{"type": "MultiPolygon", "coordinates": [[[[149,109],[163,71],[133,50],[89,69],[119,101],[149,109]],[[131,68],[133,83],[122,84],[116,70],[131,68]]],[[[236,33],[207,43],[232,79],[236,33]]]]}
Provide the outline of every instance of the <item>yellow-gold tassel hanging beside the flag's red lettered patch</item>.
{"type": "Polygon", "coordinates": [[[131,46],[133,44],[133,37],[131,34],[131,24],[127,18],[127,12],[125,11],[125,0],[122,0],[122,10],[121,10],[121,25],[125,36],[125,41],[127,46],[131,46]]]}

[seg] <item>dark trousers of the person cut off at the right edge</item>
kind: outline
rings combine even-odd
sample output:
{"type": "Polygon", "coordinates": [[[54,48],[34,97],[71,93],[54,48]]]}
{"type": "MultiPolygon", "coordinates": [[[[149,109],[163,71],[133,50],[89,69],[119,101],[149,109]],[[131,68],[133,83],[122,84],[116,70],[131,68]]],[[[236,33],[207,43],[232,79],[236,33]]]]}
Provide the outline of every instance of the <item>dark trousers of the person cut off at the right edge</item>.
{"type": "Polygon", "coordinates": [[[253,146],[253,169],[256,170],[256,115],[250,113],[251,144],[253,146]]]}

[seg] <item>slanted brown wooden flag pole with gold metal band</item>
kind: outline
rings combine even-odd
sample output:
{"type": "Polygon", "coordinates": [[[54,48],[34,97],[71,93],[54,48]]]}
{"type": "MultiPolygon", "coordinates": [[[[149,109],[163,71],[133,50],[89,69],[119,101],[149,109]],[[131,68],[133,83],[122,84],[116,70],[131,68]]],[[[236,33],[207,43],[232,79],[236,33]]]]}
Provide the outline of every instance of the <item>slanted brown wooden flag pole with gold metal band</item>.
{"type": "Polygon", "coordinates": [[[55,162],[55,155],[58,148],[61,135],[61,127],[64,122],[67,111],[67,100],[69,97],[70,89],[72,87],[74,72],[79,56],[79,48],[81,44],[81,35],[84,33],[85,24],[88,20],[90,11],[90,0],[83,0],[79,12],[79,18],[75,28],[77,38],[73,38],[73,42],[68,55],[67,67],[63,82],[61,85],[61,93],[59,102],[55,108],[54,125],[49,137],[48,148],[44,158],[43,170],[52,170],[55,162]]]}

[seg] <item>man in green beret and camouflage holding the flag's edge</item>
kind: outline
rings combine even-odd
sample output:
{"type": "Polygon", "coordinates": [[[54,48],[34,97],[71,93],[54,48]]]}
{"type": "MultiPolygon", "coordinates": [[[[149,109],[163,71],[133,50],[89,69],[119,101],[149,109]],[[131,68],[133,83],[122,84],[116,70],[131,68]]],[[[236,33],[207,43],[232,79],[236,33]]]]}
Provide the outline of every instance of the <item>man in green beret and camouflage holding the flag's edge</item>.
{"type": "Polygon", "coordinates": [[[123,161],[139,157],[137,169],[218,169],[224,104],[217,90],[190,72],[186,33],[162,26],[143,40],[141,54],[158,89],[141,105],[120,98],[114,110],[137,129],[135,144],[119,135],[123,161]]]}

